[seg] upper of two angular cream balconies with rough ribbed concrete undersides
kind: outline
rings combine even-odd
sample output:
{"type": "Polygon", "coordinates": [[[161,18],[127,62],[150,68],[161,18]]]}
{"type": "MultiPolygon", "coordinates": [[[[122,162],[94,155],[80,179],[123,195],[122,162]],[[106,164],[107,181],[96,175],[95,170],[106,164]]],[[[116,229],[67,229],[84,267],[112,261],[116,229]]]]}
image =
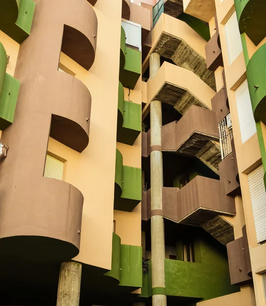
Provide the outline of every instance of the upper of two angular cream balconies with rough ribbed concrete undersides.
{"type": "Polygon", "coordinates": [[[152,52],[171,59],[177,66],[194,72],[216,89],[214,72],[207,69],[206,40],[179,19],[161,14],[152,31],[152,52]]]}

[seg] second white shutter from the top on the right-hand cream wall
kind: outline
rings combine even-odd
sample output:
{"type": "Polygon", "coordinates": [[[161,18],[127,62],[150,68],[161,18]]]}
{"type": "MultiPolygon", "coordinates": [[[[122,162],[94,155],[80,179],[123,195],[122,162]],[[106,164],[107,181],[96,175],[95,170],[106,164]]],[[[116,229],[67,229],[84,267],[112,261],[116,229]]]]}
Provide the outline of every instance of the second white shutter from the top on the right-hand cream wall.
{"type": "Polygon", "coordinates": [[[242,143],[257,133],[251,106],[248,81],[245,80],[235,91],[236,107],[242,143]]]}

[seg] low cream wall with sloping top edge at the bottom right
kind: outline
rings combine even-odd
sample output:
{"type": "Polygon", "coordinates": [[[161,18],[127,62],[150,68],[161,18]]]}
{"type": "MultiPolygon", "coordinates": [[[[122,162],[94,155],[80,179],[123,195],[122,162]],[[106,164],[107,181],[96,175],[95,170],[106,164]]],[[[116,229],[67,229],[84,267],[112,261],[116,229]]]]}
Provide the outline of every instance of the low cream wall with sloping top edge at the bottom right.
{"type": "Polygon", "coordinates": [[[240,292],[199,302],[197,306],[256,306],[252,286],[241,286],[240,290],[240,292]]]}

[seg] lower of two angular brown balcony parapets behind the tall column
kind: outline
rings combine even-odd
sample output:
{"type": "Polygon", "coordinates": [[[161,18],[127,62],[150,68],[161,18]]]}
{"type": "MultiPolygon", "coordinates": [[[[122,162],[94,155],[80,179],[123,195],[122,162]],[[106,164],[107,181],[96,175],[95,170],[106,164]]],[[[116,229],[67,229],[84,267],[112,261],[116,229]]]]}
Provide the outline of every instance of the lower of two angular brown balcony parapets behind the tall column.
{"type": "MultiPolygon", "coordinates": [[[[150,218],[150,205],[150,190],[142,192],[142,220],[150,218]]],[[[234,199],[226,196],[224,183],[199,175],[182,189],[163,187],[162,207],[164,218],[194,226],[218,215],[235,215],[234,199]]]]}

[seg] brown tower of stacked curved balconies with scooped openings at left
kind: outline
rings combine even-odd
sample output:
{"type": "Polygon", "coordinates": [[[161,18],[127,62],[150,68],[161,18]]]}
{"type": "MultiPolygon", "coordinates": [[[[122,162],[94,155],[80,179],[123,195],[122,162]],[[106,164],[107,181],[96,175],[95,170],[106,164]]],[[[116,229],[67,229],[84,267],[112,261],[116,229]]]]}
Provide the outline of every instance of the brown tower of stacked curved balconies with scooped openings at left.
{"type": "Polygon", "coordinates": [[[32,35],[16,64],[22,85],[14,122],[2,134],[10,149],[0,168],[0,247],[9,258],[64,261],[79,252],[83,195],[43,172],[49,136],[78,152],[88,145],[89,90],[58,63],[62,50],[88,69],[96,29],[86,1],[36,3],[32,35]]]}

